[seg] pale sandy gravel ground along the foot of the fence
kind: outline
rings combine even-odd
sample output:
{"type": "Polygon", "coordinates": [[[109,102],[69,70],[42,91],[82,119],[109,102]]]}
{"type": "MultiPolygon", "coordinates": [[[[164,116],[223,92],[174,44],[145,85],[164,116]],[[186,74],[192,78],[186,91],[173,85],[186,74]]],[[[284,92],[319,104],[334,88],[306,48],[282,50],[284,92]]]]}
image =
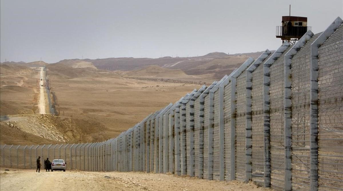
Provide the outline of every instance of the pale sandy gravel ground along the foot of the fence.
{"type": "Polygon", "coordinates": [[[252,182],[209,181],[198,178],[141,172],[57,171],[36,173],[34,169],[0,170],[0,190],[269,190],[252,182]],[[16,171],[13,171],[16,170],[16,171]]]}

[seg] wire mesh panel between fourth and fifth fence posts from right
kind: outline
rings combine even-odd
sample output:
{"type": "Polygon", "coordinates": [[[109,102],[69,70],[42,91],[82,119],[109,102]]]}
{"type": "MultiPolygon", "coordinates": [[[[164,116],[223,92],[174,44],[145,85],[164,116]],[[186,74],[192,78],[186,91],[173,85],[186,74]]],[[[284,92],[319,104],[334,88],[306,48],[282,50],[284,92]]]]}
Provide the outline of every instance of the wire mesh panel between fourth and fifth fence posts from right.
{"type": "Polygon", "coordinates": [[[245,181],[246,179],[246,94],[247,94],[247,71],[245,70],[237,77],[236,84],[236,179],[245,181]]]}

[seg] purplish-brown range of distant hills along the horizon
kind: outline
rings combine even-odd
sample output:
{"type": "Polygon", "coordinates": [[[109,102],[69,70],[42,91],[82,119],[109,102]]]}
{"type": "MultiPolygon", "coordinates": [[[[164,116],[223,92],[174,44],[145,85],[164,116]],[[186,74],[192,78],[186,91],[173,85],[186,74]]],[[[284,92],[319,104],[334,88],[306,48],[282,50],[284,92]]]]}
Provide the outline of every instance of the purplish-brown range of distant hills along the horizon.
{"type": "MultiPolygon", "coordinates": [[[[106,58],[106,59],[73,59],[62,60],[58,63],[69,64],[75,60],[92,63],[98,69],[109,71],[122,71],[125,75],[143,75],[143,71],[138,72],[140,69],[147,66],[154,65],[161,68],[180,69],[187,75],[201,75],[201,78],[217,80],[221,79],[225,74],[230,74],[236,67],[239,67],[249,56],[257,58],[262,52],[257,53],[243,53],[229,55],[224,52],[211,52],[203,56],[195,57],[170,57],[165,56],[162,58],[106,58]],[[126,73],[125,71],[135,71],[133,73],[126,73]]],[[[152,68],[150,68],[152,69],[152,68]]],[[[120,72],[120,74],[122,73],[120,72]]],[[[161,71],[161,77],[163,73],[161,71]]],[[[119,73],[118,73],[119,74],[119,73]]],[[[145,74],[144,74],[145,75],[145,74]]],[[[149,74],[152,75],[152,74],[149,74]]],[[[157,74],[155,74],[157,76],[157,74]]]]}

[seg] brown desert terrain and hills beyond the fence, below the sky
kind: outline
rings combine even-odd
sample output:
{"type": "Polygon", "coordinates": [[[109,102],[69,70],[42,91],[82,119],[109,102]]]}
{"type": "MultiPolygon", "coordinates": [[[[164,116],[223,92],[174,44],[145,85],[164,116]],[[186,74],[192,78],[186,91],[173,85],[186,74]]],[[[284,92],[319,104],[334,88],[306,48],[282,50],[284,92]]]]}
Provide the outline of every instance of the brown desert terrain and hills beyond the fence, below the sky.
{"type": "Polygon", "coordinates": [[[0,143],[79,143],[116,137],[258,55],[213,52],[187,58],[1,63],[0,143]]]}

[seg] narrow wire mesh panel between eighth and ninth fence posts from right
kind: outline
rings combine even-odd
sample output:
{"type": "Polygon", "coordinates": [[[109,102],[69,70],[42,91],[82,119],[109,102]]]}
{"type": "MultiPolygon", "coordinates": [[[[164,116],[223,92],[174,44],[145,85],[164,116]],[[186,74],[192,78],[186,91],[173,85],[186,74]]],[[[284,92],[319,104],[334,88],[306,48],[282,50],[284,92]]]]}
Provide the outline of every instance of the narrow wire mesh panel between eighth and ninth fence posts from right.
{"type": "Polygon", "coordinates": [[[199,177],[200,98],[194,101],[194,176],[199,177]]]}

